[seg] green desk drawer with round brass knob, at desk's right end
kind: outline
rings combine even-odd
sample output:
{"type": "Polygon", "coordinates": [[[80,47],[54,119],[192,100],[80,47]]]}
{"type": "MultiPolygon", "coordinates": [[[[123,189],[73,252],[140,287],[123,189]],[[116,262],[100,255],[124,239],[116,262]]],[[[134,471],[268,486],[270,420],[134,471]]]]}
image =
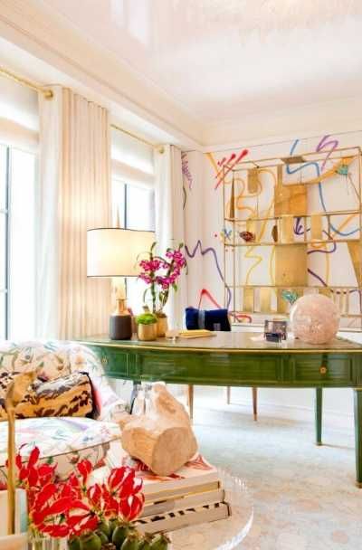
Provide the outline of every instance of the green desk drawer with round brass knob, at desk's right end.
{"type": "Polygon", "coordinates": [[[298,356],[294,359],[293,382],[297,384],[350,385],[353,361],[348,356],[298,356]]]}

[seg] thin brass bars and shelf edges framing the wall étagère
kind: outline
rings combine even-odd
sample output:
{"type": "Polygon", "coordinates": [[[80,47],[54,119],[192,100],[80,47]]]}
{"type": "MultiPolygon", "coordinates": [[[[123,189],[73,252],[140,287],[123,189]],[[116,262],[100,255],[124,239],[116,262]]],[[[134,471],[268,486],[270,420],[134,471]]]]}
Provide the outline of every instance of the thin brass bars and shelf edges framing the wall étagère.
{"type": "MultiPolygon", "coordinates": [[[[260,318],[261,316],[271,316],[271,315],[277,315],[277,316],[283,316],[285,317],[285,312],[278,312],[278,311],[258,311],[255,309],[255,304],[253,305],[253,310],[248,311],[246,309],[241,310],[240,308],[237,308],[236,306],[236,298],[237,298],[237,292],[240,292],[242,289],[270,289],[270,291],[274,291],[276,295],[280,295],[282,289],[295,289],[299,292],[303,293],[305,290],[315,290],[319,292],[328,293],[331,294],[347,294],[351,291],[358,291],[360,296],[362,295],[362,286],[345,286],[345,285],[333,285],[328,287],[323,287],[322,285],[283,285],[283,284],[276,284],[276,285],[250,285],[250,284],[240,284],[237,274],[237,267],[236,263],[237,261],[241,260],[241,257],[237,253],[238,250],[242,251],[243,248],[257,248],[259,246],[264,247],[282,247],[282,246],[291,246],[291,245],[325,245],[325,244],[333,244],[333,243],[354,243],[354,246],[356,246],[356,243],[359,242],[360,244],[360,250],[362,251],[362,193],[361,193],[361,159],[362,159],[362,152],[361,147],[338,147],[336,148],[331,154],[329,154],[328,158],[329,161],[348,161],[349,164],[353,164],[355,161],[357,161],[357,190],[356,190],[356,198],[357,198],[357,204],[358,207],[356,209],[349,209],[349,210],[332,210],[332,211],[322,211],[322,212],[303,212],[300,214],[296,213],[281,213],[277,215],[256,215],[256,216],[250,216],[249,218],[241,218],[235,215],[235,208],[233,204],[233,212],[230,211],[229,215],[226,215],[226,189],[230,188],[231,178],[232,178],[232,195],[233,196],[233,185],[234,181],[236,181],[238,173],[242,171],[248,171],[251,169],[258,169],[258,170],[266,170],[266,169],[273,169],[275,170],[275,174],[277,175],[277,171],[282,170],[282,166],[289,166],[289,165],[302,165],[303,163],[314,161],[314,162],[322,162],[326,160],[326,155],[328,152],[322,151],[320,153],[316,152],[307,152],[303,153],[298,156],[289,156],[289,157],[268,157],[268,158],[259,158],[259,159],[247,159],[243,160],[235,165],[227,164],[225,163],[222,166],[221,169],[221,175],[222,175],[222,183],[223,183],[223,213],[224,213],[224,229],[227,227],[232,229],[232,238],[231,242],[227,242],[227,240],[224,238],[224,305],[227,306],[229,292],[232,292],[232,302],[230,304],[231,309],[233,310],[233,314],[236,315],[253,315],[255,314],[260,318]],[[228,184],[225,185],[226,177],[228,178],[228,184]],[[241,231],[240,226],[247,223],[257,223],[257,222],[267,222],[267,221],[275,221],[277,224],[281,223],[281,221],[285,218],[300,218],[301,221],[303,221],[304,226],[306,226],[307,221],[310,219],[313,215],[319,215],[322,219],[327,218],[327,232],[330,231],[330,218],[333,216],[343,216],[343,215],[357,215],[359,218],[358,223],[358,237],[357,238],[346,238],[346,239],[340,239],[340,238],[326,238],[326,239],[307,239],[306,232],[304,232],[304,238],[299,241],[293,241],[289,239],[281,238],[278,234],[279,239],[277,242],[239,242],[239,237],[237,235],[238,232],[241,231]],[[229,251],[229,254],[227,253],[229,251]],[[230,251],[233,251],[234,253],[230,255],[230,251]],[[227,265],[228,264],[228,265],[227,265]],[[231,273],[230,273],[231,270],[231,273]]],[[[338,172],[336,170],[336,175],[338,175],[338,172]]],[[[343,177],[343,175],[340,175],[343,177]]],[[[316,178],[313,178],[314,180],[316,178]]],[[[322,178],[321,178],[322,179],[322,178]]],[[[285,187],[292,186],[292,185],[316,185],[315,181],[314,183],[308,183],[303,182],[300,180],[299,183],[294,184],[287,182],[285,184],[285,187]]],[[[230,199],[230,196],[227,197],[230,199]]],[[[324,230],[326,231],[326,230],[324,230]]],[[[298,236],[295,235],[297,238],[298,236]]],[[[359,252],[362,256],[362,252],[359,252]]],[[[362,280],[362,261],[359,260],[359,266],[357,268],[356,272],[357,276],[357,283],[360,283],[362,280]]],[[[360,319],[360,324],[358,327],[351,327],[353,330],[362,331],[362,299],[360,299],[360,308],[361,312],[358,314],[355,313],[346,313],[345,311],[341,311],[340,315],[342,318],[357,318],[360,319]]],[[[346,329],[346,328],[345,328],[346,329]]]]}

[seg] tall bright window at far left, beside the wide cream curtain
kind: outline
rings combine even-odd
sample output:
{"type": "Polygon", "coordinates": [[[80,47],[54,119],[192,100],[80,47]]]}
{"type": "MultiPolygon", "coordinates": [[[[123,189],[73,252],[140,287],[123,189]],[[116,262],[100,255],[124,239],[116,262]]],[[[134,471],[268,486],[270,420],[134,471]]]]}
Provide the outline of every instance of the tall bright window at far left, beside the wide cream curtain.
{"type": "Polygon", "coordinates": [[[0,145],[0,338],[33,337],[36,156],[0,145]]]}

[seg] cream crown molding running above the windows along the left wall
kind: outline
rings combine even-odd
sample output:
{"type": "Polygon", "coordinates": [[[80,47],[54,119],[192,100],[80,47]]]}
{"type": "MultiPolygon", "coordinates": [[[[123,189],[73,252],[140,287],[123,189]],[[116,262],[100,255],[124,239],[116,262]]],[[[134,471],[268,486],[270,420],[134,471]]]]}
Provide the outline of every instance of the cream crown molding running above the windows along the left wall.
{"type": "Polygon", "coordinates": [[[65,17],[43,2],[0,0],[0,33],[5,40],[129,109],[136,117],[175,135],[181,143],[199,145],[199,120],[153,82],[131,71],[125,62],[77,33],[65,17]]]}

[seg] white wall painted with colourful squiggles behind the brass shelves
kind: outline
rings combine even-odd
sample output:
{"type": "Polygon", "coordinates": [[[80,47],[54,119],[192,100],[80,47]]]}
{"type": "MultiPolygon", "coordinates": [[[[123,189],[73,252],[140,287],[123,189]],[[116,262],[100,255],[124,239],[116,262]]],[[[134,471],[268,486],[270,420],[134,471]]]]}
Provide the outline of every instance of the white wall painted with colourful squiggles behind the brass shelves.
{"type": "MultiPolygon", "coordinates": [[[[344,325],[361,327],[361,137],[296,138],[205,154],[202,188],[193,187],[185,211],[189,265],[203,266],[194,270],[190,302],[227,306],[254,321],[258,313],[287,311],[280,285],[330,296],[344,325]],[[252,162],[261,158],[284,159],[282,168],[252,162]],[[203,223],[196,234],[197,200],[203,223]],[[294,279],[289,262],[300,271],[294,279]]],[[[192,174],[184,177],[189,186],[192,174]]]]}

